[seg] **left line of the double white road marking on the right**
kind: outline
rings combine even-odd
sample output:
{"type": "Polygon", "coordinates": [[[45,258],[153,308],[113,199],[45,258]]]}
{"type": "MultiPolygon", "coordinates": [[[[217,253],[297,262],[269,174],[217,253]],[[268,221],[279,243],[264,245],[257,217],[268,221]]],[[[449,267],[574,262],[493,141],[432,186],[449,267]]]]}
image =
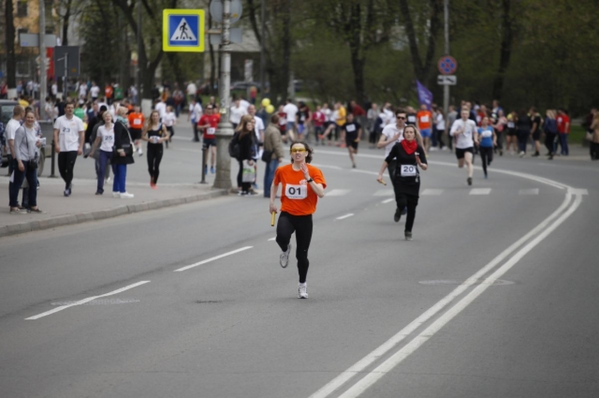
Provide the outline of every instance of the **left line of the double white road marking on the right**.
{"type": "Polygon", "coordinates": [[[561,214],[561,212],[570,204],[571,196],[566,195],[562,204],[555,210],[551,215],[549,215],[546,219],[544,219],[537,227],[533,228],[533,230],[529,231],[525,236],[521,237],[515,243],[506,248],[503,252],[501,252],[497,257],[491,260],[490,263],[486,264],[486,266],[482,267],[478,272],[476,272],[473,276],[468,278],[464,284],[456,287],[451,293],[447,296],[443,297],[440,301],[435,303],[432,307],[430,307],[426,312],[422,313],[422,315],[418,316],[418,318],[414,319],[410,324],[400,330],[395,336],[392,336],[391,339],[387,340],[385,343],[376,348],[373,352],[366,355],[364,358],[353,364],[343,373],[338,375],[336,378],[332,379],[326,385],[324,385],[320,390],[316,391],[309,398],[325,398],[328,397],[333,391],[337,390],[337,388],[341,387],[341,385],[345,384],[350,378],[354,375],[361,373],[366,367],[370,366],[374,361],[378,358],[382,357],[386,354],[386,352],[391,351],[394,346],[399,344],[403,339],[409,336],[413,331],[415,331],[420,325],[424,322],[428,321],[432,316],[440,312],[447,304],[451,303],[456,297],[460,296],[464,293],[465,290],[468,289],[473,284],[476,284],[479,279],[481,279],[486,273],[492,270],[497,264],[504,260],[504,258],[508,257],[512,252],[519,248],[524,242],[530,239],[536,234],[543,231],[549,222],[552,219],[556,218],[561,214]]]}

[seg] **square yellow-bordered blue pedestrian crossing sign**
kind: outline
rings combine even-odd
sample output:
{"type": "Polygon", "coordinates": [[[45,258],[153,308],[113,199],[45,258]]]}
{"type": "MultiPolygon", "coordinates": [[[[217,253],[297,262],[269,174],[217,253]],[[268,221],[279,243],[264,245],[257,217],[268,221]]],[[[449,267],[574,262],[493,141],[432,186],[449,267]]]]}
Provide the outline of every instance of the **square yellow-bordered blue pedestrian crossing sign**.
{"type": "Polygon", "coordinates": [[[163,10],[162,50],[204,52],[204,10],[163,10]]]}

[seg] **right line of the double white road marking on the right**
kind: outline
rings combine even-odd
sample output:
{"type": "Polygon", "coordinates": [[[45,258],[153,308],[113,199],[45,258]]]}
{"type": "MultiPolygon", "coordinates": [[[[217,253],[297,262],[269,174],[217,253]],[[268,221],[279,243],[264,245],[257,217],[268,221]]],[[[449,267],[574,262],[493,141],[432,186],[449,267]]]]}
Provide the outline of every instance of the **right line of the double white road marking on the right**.
{"type": "MultiPolygon", "coordinates": [[[[570,196],[568,194],[568,196],[570,196]]],[[[470,303],[472,303],[477,297],[485,292],[489,288],[489,286],[493,285],[497,279],[501,278],[506,272],[512,269],[518,261],[522,259],[525,255],[528,254],[535,246],[539,245],[539,243],[549,236],[550,233],[556,230],[559,225],[562,224],[568,217],[572,215],[576,211],[576,209],[580,206],[582,202],[582,195],[576,195],[576,199],[570,208],[562,214],[558,219],[556,219],[549,227],[547,227],[544,231],[542,231],[539,236],[531,240],[527,245],[523,246],[512,258],[506,261],[503,266],[499,267],[492,273],[488,278],[485,279],[482,284],[475,287],[470,293],[468,293],[464,298],[458,301],[454,306],[447,310],[443,315],[441,315],[436,321],[432,322],[429,327],[425,328],[418,336],[416,336],[412,341],[407,343],[403,348],[399,351],[395,352],[395,354],[391,355],[385,362],[377,366],[374,370],[368,373],[368,375],[364,376],[360,381],[356,382],[352,387],[350,387],[345,393],[341,394],[339,398],[355,398],[360,396],[367,390],[368,387],[379,381],[380,378],[389,373],[395,366],[401,363],[404,359],[406,359],[410,354],[416,351],[423,343],[431,339],[432,336],[437,333],[437,331],[441,330],[447,323],[449,323],[455,316],[457,316],[462,310],[464,310],[470,303]]]]}

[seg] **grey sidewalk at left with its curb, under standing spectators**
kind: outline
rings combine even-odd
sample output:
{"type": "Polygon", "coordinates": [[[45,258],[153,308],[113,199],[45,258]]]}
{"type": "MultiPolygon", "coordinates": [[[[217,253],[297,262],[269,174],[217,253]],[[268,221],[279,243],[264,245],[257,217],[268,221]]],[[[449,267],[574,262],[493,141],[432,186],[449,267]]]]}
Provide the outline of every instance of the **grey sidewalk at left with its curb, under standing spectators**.
{"type": "MultiPolygon", "coordinates": [[[[4,169],[3,169],[4,170],[4,169]]],[[[63,196],[62,179],[40,178],[38,206],[44,213],[14,215],[8,206],[0,207],[0,237],[46,230],[60,225],[78,224],[128,213],[160,209],[227,195],[225,189],[213,189],[211,184],[165,184],[158,189],[149,184],[127,183],[127,191],[135,195],[132,199],[113,198],[112,183],[105,186],[104,195],[95,195],[96,180],[73,180],[72,195],[63,196]]],[[[8,202],[8,177],[0,177],[0,197],[8,202]]],[[[22,193],[19,194],[19,203],[22,193]]]]}

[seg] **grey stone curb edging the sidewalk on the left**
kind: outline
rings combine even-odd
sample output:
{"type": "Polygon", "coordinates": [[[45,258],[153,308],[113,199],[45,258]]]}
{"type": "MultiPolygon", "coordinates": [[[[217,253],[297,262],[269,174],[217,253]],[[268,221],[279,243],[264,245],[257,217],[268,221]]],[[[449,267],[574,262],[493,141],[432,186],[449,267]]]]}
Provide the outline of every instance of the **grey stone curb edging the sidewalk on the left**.
{"type": "Polygon", "coordinates": [[[22,222],[20,224],[4,225],[0,227],[0,238],[11,235],[24,234],[32,231],[49,230],[50,228],[62,227],[63,225],[81,224],[82,222],[98,221],[114,218],[125,214],[145,212],[147,210],[162,209],[163,207],[178,206],[179,204],[193,203],[201,200],[226,196],[226,189],[214,189],[205,194],[189,195],[179,198],[156,200],[146,203],[128,204],[109,210],[94,210],[92,212],[77,213],[72,215],[56,216],[44,220],[22,222]]]}

